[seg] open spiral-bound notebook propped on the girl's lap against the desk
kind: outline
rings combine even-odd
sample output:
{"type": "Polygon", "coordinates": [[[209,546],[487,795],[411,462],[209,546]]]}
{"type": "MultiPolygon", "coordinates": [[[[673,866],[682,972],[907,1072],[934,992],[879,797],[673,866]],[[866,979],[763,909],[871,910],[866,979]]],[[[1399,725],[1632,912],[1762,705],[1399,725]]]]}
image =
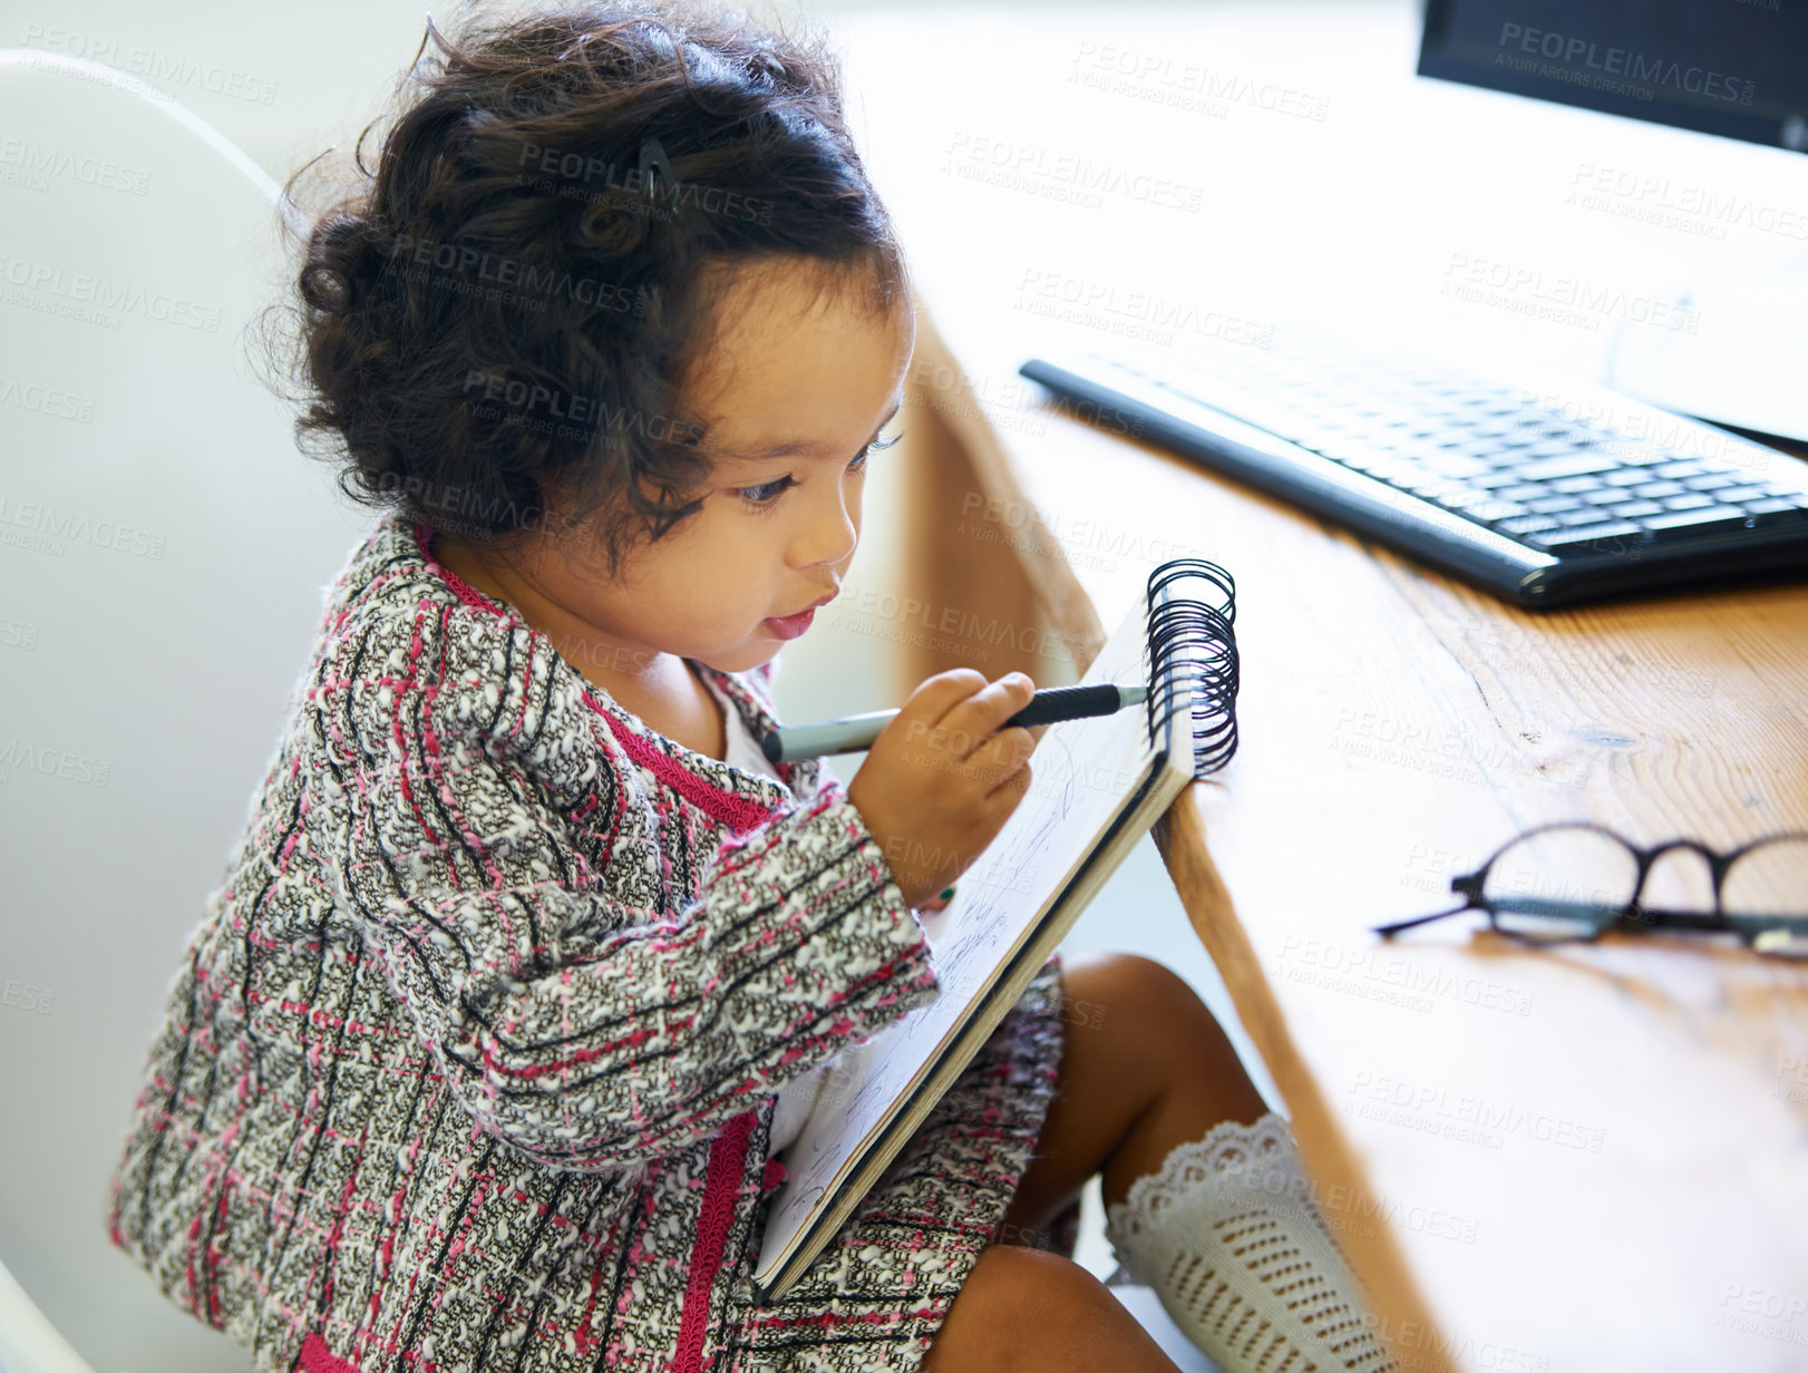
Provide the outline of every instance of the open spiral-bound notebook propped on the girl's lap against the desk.
{"type": "Polygon", "coordinates": [[[1137,840],[1237,750],[1235,585],[1164,562],[1083,683],[1148,683],[1141,710],[1067,721],[1031,755],[1031,786],[942,911],[918,914],[940,994],[844,1050],[803,1133],[777,1154],[754,1270],[783,1295],[884,1176],[1137,840]]]}

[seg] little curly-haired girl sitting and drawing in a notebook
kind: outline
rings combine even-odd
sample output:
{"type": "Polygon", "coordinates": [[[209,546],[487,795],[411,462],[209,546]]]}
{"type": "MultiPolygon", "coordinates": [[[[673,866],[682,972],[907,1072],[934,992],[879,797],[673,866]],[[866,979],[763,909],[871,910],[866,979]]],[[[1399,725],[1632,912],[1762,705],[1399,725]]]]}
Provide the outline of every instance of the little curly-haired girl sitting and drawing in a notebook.
{"type": "Polygon", "coordinates": [[[266,1371],[1172,1373],[1072,1263],[1103,1172],[1125,1275],[1224,1369],[1381,1366],[1285,1124],[1134,957],[1050,957],[754,1303],[823,1073],[938,995],[915,911],[1022,799],[1032,685],[931,677],[846,788],[758,746],[915,341],[821,40],[638,4],[428,36],[298,284],[300,432],[385,513],[112,1241],[266,1371]]]}

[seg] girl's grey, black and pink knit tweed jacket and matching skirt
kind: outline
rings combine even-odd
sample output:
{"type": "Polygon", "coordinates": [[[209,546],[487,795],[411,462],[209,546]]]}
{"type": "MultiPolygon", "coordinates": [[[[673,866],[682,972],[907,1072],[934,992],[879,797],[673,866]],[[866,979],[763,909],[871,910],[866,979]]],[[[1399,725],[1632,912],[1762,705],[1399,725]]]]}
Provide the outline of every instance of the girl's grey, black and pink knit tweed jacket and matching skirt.
{"type": "MultiPolygon", "coordinates": [[[[698,667],[774,728],[765,670],[698,667]]],[[[383,515],[168,986],[112,1243],[264,1373],[917,1368],[1047,1115],[1061,965],[758,1306],[777,1091],[938,995],[861,813],[783,775],[383,515]]]]}

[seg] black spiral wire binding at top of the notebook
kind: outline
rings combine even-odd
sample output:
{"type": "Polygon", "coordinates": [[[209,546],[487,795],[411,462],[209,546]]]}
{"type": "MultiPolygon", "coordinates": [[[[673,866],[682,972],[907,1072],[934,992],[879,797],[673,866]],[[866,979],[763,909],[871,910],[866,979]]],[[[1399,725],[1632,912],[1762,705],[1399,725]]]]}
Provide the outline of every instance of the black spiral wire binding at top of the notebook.
{"type": "Polygon", "coordinates": [[[1148,578],[1148,737],[1179,712],[1193,715],[1193,777],[1215,773],[1237,752],[1237,582],[1215,562],[1173,558],[1148,578]],[[1199,578],[1215,593],[1173,594],[1173,582],[1199,578]]]}

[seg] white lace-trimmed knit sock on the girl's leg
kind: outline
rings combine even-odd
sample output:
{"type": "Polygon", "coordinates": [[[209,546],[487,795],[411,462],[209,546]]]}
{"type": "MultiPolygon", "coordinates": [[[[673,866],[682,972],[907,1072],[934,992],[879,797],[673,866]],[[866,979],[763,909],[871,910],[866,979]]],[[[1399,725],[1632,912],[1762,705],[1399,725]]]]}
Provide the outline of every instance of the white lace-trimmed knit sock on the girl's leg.
{"type": "Polygon", "coordinates": [[[1106,1286],[1152,1286],[1224,1373],[1392,1368],[1278,1115],[1175,1145],[1105,1207],[1105,1236],[1106,1286]]]}

